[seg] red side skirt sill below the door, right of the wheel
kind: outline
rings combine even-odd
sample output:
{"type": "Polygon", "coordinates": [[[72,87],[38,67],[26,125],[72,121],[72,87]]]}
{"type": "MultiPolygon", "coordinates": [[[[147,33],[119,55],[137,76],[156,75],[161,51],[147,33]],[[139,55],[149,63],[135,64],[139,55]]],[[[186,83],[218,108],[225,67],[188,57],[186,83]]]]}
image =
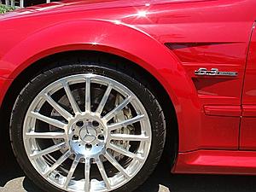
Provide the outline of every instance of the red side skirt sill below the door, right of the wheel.
{"type": "Polygon", "coordinates": [[[256,151],[196,150],[179,153],[172,172],[256,175],[256,151]]]}

